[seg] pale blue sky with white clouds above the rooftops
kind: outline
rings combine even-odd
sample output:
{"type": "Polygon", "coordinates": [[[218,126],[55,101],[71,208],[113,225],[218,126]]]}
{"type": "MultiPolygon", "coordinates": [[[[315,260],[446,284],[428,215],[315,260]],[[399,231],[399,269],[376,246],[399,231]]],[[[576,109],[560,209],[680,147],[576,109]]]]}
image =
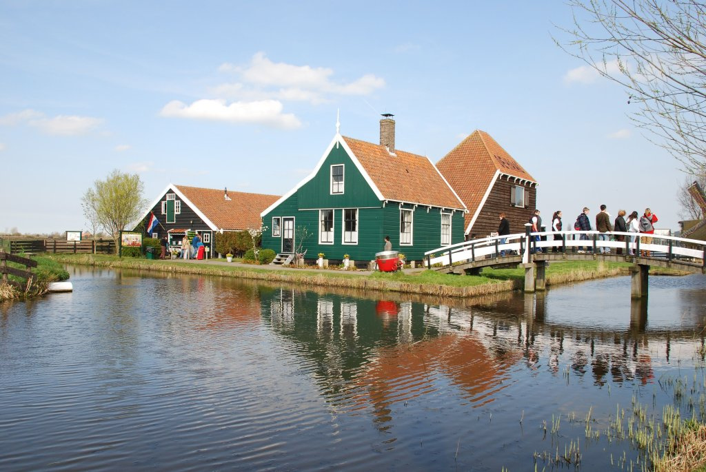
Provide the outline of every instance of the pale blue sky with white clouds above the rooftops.
{"type": "MultiPolygon", "coordinates": [[[[0,0],[0,231],[88,229],[112,169],[282,195],[335,134],[437,162],[481,129],[539,181],[545,218],[605,203],[678,228],[685,175],[624,90],[561,51],[559,1],[0,0]]],[[[594,213],[593,213],[594,214],[594,213]]]]}

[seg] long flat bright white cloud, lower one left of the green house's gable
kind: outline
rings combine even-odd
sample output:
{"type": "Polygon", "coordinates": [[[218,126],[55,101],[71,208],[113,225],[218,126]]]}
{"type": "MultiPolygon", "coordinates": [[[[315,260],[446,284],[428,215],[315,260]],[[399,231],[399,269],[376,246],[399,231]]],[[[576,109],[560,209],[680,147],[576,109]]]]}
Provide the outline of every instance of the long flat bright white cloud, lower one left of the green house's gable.
{"type": "Polygon", "coordinates": [[[293,129],[301,126],[301,121],[293,114],[282,114],[282,103],[277,100],[257,102],[232,102],[223,99],[201,99],[191,105],[172,100],[164,105],[161,116],[189,118],[230,123],[260,123],[277,128],[293,129]]]}

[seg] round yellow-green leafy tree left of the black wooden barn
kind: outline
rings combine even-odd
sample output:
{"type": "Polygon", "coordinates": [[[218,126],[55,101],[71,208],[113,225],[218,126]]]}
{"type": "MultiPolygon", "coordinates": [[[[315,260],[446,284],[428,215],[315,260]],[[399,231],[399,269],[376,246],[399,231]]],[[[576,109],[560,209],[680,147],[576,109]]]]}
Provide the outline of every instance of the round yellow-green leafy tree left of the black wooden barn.
{"type": "Polygon", "coordinates": [[[116,251],[120,231],[138,219],[148,205],[142,197],[143,188],[137,174],[125,174],[116,169],[104,181],[95,181],[94,187],[83,194],[82,202],[95,210],[97,224],[113,238],[116,251]]]}

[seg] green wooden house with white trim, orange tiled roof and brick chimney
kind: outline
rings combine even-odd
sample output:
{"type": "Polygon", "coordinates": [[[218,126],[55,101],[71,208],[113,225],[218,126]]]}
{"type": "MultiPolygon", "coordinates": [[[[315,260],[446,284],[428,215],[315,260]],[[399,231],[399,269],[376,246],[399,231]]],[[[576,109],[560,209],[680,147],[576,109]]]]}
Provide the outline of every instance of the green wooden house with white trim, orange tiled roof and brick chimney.
{"type": "Polygon", "coordinates": [[[369,261],[390,236],[408,260],[463,241],[465,205],[426,157],[395,150],[395,121],[380,121],[380,144],[336,133],[311,175],[262,212],[262,246],[291,254],[299,228],[307,259],[369,261]]]}

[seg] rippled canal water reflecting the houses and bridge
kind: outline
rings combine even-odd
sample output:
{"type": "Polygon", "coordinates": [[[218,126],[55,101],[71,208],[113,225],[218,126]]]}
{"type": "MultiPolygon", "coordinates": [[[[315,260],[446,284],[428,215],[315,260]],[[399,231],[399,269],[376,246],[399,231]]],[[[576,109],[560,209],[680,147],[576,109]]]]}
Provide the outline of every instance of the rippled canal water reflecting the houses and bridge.
{"type": "Polygon", "coordinates": [[[700,275],[631,303],[628,277],[451,301],[70,272],[0,305],[2,471],[623,470],[616,413],[703,414],[700,275]]]}

